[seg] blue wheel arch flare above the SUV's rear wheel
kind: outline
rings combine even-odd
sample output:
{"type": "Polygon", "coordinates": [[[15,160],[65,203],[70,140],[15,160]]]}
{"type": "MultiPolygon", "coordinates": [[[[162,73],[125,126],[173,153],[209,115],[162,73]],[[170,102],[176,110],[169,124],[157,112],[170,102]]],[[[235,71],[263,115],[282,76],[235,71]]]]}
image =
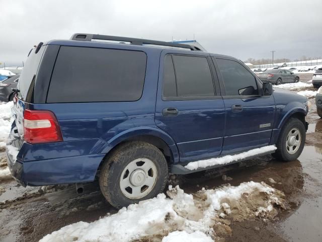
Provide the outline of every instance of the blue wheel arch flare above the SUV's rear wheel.
{"type": "Polygon", "coordinates": [[[137,127],[137,128],[125,130],[117,134],[116,136],[114,136],[109,141],[107,141],[106,144],[99,150],[99,153],[107,154],[110,150],[112,150],[115,146],[117,146],[121,142],[126,141],[130,138],[134,138],[136,136],[141,136],[141,135],[154,136],[156,138],[163,140],[168,145],[172,153],[173,163],[179,162],[179,151],[175,141],[165,131],[154,127],[137,127]]]}

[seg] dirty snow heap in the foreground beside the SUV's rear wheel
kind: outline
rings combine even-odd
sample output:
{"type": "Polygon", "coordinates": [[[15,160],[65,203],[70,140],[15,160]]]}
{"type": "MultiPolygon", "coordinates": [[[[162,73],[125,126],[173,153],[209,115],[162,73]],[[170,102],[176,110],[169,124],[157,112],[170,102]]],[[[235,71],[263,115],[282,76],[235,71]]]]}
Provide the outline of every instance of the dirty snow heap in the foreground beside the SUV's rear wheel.
{"type": "Polygon", "coordinates": [[[240,214],[247,214],[248,218],[269,217],[270,214],[276,215],[274,207],[283,207],[284,202],[282,192],[254,181],[237,187],[203,188],[194,195],[184,193],[179,186],[169,186],[167,194],[169,198],[159,194],[91,223],[67,225],[47,234],[40,242],[151,241],[155,237],[163,237],[163,242],[208,242],[216,239],[213,226],[221,224],[219,214],[228,217],[236,212],[239,219],[240,214]]]}

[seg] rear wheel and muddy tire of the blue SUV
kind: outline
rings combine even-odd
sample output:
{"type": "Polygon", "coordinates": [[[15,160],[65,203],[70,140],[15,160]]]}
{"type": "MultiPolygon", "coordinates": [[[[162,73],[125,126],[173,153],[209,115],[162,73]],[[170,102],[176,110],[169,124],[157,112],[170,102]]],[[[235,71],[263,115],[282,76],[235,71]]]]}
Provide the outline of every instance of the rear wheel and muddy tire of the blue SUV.
{"type": "Polygon", "coordinates": [[[150,199],[162,193],[168,180],[168,163],[155,146],[132,141],[117,148],[104,161],[100,188],[114,207],[150,199]]]}

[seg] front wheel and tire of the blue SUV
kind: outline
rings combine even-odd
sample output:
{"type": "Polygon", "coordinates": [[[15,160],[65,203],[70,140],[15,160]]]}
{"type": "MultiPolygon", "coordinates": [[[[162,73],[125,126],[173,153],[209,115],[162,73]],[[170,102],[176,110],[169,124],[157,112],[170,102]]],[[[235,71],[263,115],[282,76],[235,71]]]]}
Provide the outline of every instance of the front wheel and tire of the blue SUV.
{"type": "Polygon", "coordinates": [[[291,117],[281,130],[274,157],[282,161],[296,160],[304,148],[305,137],[304,124],[298,118],[291,117]]]}

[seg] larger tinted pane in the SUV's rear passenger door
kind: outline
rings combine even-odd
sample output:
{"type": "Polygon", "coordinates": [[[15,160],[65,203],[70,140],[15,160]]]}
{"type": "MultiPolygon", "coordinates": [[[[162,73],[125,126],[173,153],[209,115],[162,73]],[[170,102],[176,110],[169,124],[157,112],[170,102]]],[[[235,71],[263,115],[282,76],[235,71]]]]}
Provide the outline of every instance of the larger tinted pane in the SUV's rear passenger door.
{"type": "Polygon", "coordinates": [[[212,97],[214,87],[206,57],[173,55],[178,97],[212,97]]]}

